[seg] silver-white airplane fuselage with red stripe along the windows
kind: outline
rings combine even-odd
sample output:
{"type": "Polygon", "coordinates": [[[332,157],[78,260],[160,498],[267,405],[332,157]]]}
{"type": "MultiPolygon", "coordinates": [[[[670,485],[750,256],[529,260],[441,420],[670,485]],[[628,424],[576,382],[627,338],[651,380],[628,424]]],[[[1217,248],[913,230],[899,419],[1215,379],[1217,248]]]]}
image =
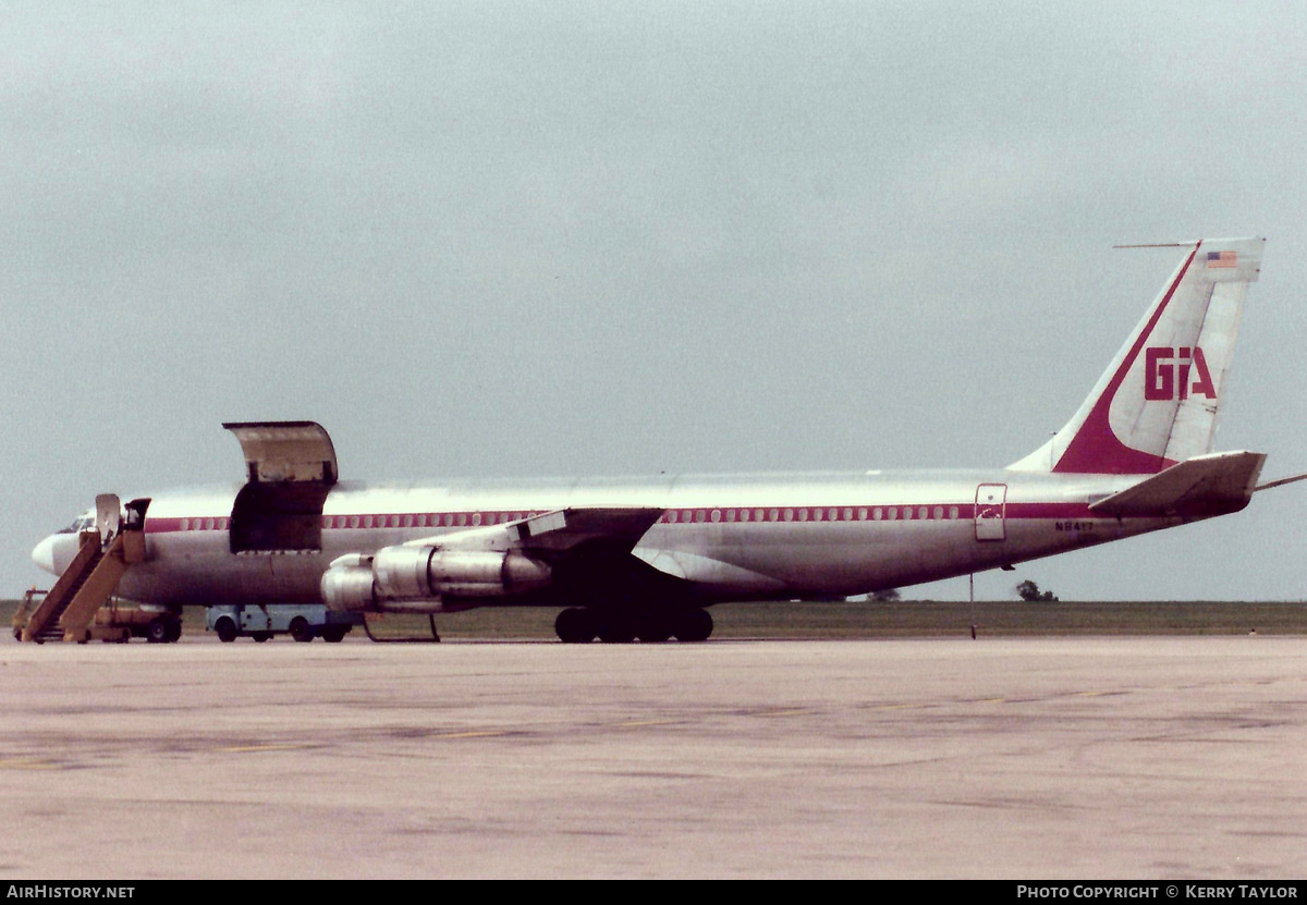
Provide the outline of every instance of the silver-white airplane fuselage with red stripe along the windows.
{"type": "MultiPolygon", "coordinates": [[[[634,555],[703,602],[864,594],[992,569],[1180,524],[1103,518],[1089,504],[1140,476],[1005,470],[761,476],[661,476],[529,484],[342,481],[322,514],[322,549],[230,549],[239,485],[162,493],[145,519],[129,599],[167,606],[316,602],[339,556],[439,538],[576,506],[664,510],[634,555]],[[978,506],[978,492],[982,493],[978,506]],[[979,513],[979,515],[978,515],[979,513]]],[[[72,535],[64,535],[72,538],[72,535]]],[[[68,551],[56,553],[63,569],[68,551]]],[[[478,600],[558,603],[545,596],[478,600]]]]}

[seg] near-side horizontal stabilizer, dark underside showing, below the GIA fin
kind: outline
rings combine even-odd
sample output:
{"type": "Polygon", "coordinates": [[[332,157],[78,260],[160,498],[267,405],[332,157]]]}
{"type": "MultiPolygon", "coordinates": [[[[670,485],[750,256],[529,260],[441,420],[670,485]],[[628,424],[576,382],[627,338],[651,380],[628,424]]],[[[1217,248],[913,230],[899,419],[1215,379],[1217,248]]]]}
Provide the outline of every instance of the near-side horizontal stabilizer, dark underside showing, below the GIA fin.
{"type": "Polygon", "coordinates": [[[1264,452],[1212,452],[1171,466],[1090,505],[1095,515],[1221,515],[1252,498],[1264,452]]]}

